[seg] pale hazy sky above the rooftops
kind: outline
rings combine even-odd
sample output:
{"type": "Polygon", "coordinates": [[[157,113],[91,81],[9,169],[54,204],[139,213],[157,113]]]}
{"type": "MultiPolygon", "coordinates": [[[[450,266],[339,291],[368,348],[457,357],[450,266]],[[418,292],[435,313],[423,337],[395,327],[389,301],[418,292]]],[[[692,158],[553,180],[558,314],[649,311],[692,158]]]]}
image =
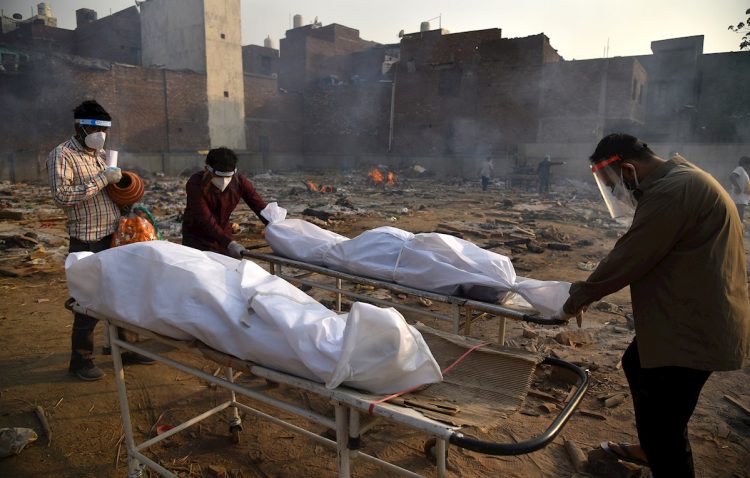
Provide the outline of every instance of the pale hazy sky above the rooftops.
{"type": "MultiPolygon", "coordinates": [[[[38,0],[0,0],[6,16],[36,12],[38,0]]],[[[61,28],[75,28],[75,10],[93,8],[99,17],[133,5],[133,0],[48,0],[61,28]]],[[[737,51],[740,35],[727,30],[747,18],[748,0],[241,0],[242,44],[262,45],[271,35],[276,48],[291,16],[304,22],[357,28],[366,40],[398,41],[399,30],[415,32],[420,22],[441,16],[451,33],[501,28],[506,38],[545,33],[567,60],[651,53],[653,40],[705,35],[704,52],[737,51]]],[[[432,20],[437,28],[439,20],[432,20]]]]}

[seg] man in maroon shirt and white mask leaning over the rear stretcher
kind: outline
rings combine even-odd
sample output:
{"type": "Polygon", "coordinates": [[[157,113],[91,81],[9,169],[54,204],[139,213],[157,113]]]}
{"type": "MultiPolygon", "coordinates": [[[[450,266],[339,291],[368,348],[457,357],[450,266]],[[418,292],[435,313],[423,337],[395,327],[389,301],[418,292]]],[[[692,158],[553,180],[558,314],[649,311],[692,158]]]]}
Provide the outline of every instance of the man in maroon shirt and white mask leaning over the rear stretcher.
{"type": "Polygon", "coordinates": [[[182,244],[241,259],[245,248],[232,239],[229,216],[240,199],[260,215],[266,201],[252,183],[237,172],[237,156],[228,148],[216,148],[206,156],[205,170],[193,174],[185,185],[187,206],[182,217],[182,244]]]}

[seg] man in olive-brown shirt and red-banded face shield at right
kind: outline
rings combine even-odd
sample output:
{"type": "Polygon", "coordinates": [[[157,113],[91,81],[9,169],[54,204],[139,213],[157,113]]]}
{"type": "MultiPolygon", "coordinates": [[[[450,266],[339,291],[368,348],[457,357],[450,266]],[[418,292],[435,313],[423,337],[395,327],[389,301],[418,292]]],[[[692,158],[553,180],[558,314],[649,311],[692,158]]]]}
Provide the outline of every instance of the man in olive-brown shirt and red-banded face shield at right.
{"type": "Polygon", "coordinates": [[[682,157],[665,161],[633,136],[605,137],[590,159],[607,205],[607,194],[624,191],[635,216],[589,278],[570,287],[559,315],[630,286],[635,339],[622,367],[640,446],[602,447],[647,463],[655,478],[693,477],[687,424],[701,389],[712,371],[741,369],[750,357],[742,223],[711,175],[682,157]]]}

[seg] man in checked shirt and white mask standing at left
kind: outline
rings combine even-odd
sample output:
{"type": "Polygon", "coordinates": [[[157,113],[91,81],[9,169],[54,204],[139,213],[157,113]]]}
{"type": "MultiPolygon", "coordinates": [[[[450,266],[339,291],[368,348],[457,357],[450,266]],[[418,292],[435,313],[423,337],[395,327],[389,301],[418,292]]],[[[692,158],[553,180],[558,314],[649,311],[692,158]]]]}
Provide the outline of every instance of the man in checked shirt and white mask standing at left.
{"type": "MultiPolygon", "coordinates": [[[[73,110],[75,134],[58,145],[47,158],[52,198],[68,218],[68,252],[101,252],[109,249],[120,221],[120,210],[107,194],[108,184],[122,178],[120,168],[107,167],[104,144],[112,117],[96,101],[84,101],[73,110]]],[[[94,329],[98,319],[74,314],[68,372],[81,380],[99,380],[104,372],[94,365],[94,329]]],[[[133,334],[120,332],[134,341],[133,334]]],[[[154,361],[132,352],[122,354],[126,363],[154,361]]]]}

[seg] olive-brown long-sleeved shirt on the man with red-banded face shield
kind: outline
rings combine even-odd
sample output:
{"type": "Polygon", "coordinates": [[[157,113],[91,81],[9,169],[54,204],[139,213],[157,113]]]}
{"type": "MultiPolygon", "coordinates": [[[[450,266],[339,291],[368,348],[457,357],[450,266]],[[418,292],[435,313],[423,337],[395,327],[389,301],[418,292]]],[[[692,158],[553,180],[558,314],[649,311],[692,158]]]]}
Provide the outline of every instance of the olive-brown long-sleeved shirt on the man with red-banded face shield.
{"type": "Polygon", "coordinates": [[[742,222],[708,173],[672,159],[635,191],[630,229],[586,281],[572,313],[630,285],[645,368],[736,370],[750,357],[750,303],[742,222]]]}

